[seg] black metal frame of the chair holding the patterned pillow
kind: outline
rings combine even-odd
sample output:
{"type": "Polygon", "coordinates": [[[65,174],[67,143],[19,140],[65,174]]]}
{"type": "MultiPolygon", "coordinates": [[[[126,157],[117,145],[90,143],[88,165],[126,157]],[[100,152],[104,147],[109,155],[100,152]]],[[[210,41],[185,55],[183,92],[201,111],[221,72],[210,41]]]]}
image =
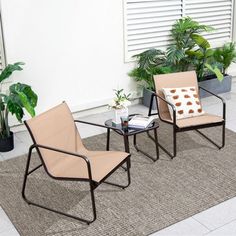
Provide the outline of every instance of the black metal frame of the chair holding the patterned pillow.
{"type": "MultiPolygon", "coordinates": [[[[179,132],[184,132],[184,131],[190,131],[190,130],[195,130],[198,134],[200,134],[202,137],[204,137],[206,140],[208,140],[210,143],[212,143],[214,146],[216,146],[218,149],[221,149],[225,146],[225,118],[226,118],[226,104],[225,104],[225,100],[212,93],[211,91],[199,86],[199,90],[202,89],[205,92],[213,95],[214,97],[220,99],[220,101],[222,102],[222,118],[223,121],[221,122],[217,122],[217,123],[209,123],[209,124],[203,124],[203,125],[196,125],[196,126],[189,126],[189,127],[184,127],[184,128],[180,128],[177,126],[176,124],[176,109],[175,106],[168,102],[167,100],[165,100],[163,97],[159,96],[156,93],[152,93],[151,96],[151,101],[150,101],[150,106],[149,106],[149,111],[148,111],[148,116],[152,116],[152,115],[158,115],[159,119],[165,123],[168,123],[170,125],[173,126],[173,152],[171,153],[170,151],[168,151],[165,147],[163,147],[163,145],[160,144],[160,142],[158,142],[159,147],[167,154],[171,157],[171,159],[173,159],[174,157],[176,157],[177,154],[177,133],[179,132]],[[152,113],[152,104],[153,104],[153,99],[156,99],[156,104],[157,104],[157,113],[152,113]],[[162,100],[163,102],[165,102],[166,104],[168,104],[173,112],[173,122],[169,122],[167,120],[162,119],[161,115],[160,115],[160,111],[159,111],[159,106],[158,106],[158,99],[162,100]],[[209,128],[209,127],[215,127],[215,126],[222,126],[222,142],[221,144],[217,144],[215,141],[213,141],[212,139],[210,139],[207,135],[203,134],[199,129],[204,129],[204,128],[209,128]]],[[[154,138],[149,134],[149,137],[153,140],[154,138]]]]}

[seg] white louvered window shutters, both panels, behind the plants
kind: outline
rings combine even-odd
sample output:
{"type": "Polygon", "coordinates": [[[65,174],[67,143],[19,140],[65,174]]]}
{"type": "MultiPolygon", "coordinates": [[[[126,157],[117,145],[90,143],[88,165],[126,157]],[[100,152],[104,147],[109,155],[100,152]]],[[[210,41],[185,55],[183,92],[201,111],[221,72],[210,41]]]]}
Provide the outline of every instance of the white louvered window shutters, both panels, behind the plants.
{"type": "Polygon", "coordinates": [[[203,35],[212,47],[233,37],[234,0],[123,0],[125,61],[149,48],[165,49],[172,24],[183,16],[216,30],[203,35]]]}

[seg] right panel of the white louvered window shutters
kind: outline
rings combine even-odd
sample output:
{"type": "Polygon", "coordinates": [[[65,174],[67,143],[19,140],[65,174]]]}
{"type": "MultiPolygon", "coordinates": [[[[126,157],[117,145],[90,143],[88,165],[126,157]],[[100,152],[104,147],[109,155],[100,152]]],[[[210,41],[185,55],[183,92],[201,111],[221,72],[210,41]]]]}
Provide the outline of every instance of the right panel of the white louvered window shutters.
{"type": "Polygon", "coordinates": [[[184,14],[216,29],[203,33],[212,47],[232,40],[233,0],[185,0],[184,14]]]}

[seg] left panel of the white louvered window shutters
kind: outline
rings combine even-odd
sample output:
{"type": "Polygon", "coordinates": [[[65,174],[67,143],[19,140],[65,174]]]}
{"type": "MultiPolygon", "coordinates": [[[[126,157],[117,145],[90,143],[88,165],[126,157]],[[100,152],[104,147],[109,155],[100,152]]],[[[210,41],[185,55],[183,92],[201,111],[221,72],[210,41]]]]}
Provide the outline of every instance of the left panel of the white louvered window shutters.
{"type": "Polygon", "coordinates": [[[124,0],[125,61],[149,48],[165,49],[182,0],[124,0]]]}

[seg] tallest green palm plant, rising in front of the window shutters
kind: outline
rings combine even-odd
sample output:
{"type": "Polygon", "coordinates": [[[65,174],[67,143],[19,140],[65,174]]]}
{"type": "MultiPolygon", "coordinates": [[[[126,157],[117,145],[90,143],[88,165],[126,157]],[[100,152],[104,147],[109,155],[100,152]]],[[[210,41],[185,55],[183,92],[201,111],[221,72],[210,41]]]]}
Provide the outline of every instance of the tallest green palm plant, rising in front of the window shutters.
{"type": "Polygon", "coordinates": [[[167,62],[173,65],[176,71],[187,71],[192,60],[186,51],[196,46],[196,40],[202,38],[200,33],[211,30],[212,27],[199,24],[190,17],[177,20],[171,29],[173,43],[167,48],[167,62]]]}

